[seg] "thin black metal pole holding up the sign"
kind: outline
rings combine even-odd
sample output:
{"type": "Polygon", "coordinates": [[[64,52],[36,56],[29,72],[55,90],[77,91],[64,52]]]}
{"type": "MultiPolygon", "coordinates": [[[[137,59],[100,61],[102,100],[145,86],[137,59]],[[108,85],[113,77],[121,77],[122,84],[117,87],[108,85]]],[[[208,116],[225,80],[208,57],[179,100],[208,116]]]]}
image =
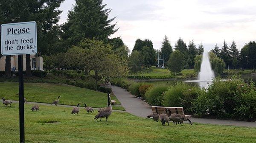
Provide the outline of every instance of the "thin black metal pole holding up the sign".
{"type": "Polygon", "coordinates": [[[18,65],[19,65],[20,143],[25,143],[23,55],[18,55],[18,65]]]}

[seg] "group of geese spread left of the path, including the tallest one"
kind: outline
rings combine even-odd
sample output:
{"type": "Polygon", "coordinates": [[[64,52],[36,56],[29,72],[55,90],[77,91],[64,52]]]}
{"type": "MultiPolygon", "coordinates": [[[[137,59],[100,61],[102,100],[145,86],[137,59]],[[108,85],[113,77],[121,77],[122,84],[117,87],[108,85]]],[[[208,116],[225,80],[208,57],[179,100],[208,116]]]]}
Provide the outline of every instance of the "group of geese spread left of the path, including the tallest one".
{"type": "MultiPolygon", "coordinates": [[[[18,95],[18,94],[17,94],[18,95]]],[[[60,101],[60,98],[61,96],[58,96],[57,100],[55,101],[52,101],[52,104],[55,104],[57,106],[57,104],[59,103],[60,101]]],[[[3,97],[3,104],[6,105],[9,105],[11,107],[11,104],[12,104],[12,101],[8,101],[8,100],[5,100],[5,98],[3,97]]],[[[24,98],[24,103],[27,102],[26,98],[24,98]]],[[[72,111],[71,111],[71,114],[74,114],[74,115],[78,115],[80,109],[79,109],[79,103],[77,104],[76,107],[73,107],[72,111]]],[[[85,106],[85,109],[87,111],[87,113],[89,114],[89,112],[91,112],[91,114],[93,114],[94,110],[92,107],[87,107],[87,105],[84,103],[84,106],[85,106]]],[[[34,105],[31,107],[31,110],[32,111],[39,111],[40,108],[39,108],[39,105],[34,105]]],[[[100,121],[102,120],[102,118],[106,118],[106,121],[108,121],[108,117],[111,115],[112,113],[112,106],[111,106],[111,103],[110,103],[110,93],[108,93],[108,107],[103,107],[101,109],[98,110],[94,120],[97,120],[100,118],[100,121]]]]}

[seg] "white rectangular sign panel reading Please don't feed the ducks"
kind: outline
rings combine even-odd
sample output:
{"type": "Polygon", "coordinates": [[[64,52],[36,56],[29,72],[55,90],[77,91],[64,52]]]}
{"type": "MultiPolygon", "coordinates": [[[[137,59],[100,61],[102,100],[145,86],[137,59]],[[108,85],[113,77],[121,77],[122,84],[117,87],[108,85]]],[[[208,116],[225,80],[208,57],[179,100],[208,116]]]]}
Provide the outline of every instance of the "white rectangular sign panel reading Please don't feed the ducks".
{"type": "Polygon", "coordinates": [[[36,22],[2,24],[1,52],[3,56],[37,53],[36,22]]]}

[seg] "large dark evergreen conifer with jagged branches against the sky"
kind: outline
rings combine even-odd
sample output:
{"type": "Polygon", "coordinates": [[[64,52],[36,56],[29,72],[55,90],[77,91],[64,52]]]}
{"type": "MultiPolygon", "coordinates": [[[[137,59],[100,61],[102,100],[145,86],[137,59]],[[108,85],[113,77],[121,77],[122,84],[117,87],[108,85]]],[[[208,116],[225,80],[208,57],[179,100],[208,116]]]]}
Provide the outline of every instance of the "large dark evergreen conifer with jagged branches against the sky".
{"type": "Polygon", "coordinates": [[[67,22],[62,25],[63,34],[61,38],[64,45],[78,45],[84,39],[97,39],[108,41],[108,36],[114,34],[115,24],[111,24],[116,17],[108,19],[110,8],[102,4],[103,0],[76,0],[73,9],[69,11],[67,22]]]}

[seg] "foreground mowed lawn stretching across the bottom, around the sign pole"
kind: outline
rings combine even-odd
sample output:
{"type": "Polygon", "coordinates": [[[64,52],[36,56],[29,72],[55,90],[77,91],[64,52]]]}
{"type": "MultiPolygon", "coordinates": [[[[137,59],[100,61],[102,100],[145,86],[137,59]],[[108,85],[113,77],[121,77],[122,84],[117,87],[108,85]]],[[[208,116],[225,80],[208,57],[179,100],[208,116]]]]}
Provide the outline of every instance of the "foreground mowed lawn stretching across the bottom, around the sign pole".
{"type": "MultiPolygon", "coordinates": [[[[71,115],[67,107],[25,104],[26,143],[255,143],[256,128],[194,123],[162,126],[126,112],[93,121],[96,112],[71,115]],[[53,122],[53,123],[51,123],[53,122]]],[[[0,104],[0,143],[19,142],[18,104],[0,104]]]]}

